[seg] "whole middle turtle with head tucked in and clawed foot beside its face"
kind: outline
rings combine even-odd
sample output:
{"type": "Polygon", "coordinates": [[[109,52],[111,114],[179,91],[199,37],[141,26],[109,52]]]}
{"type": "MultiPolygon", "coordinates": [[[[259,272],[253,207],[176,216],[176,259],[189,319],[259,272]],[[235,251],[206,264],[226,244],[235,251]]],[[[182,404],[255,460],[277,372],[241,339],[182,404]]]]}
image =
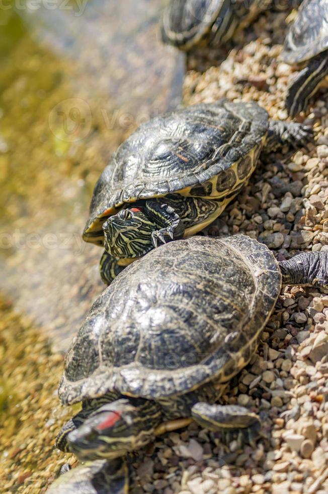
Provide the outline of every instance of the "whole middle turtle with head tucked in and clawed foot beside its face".
{"type": "Polygon", "coordinates": [[[143,123],[93,192],[83,238],[105,246],[103,281],[157,245],[208,226],[247,183],[263,148],[296,147],[311,136],[300,123],[269,120],[256,102],[224,98],[143,123]]]}

